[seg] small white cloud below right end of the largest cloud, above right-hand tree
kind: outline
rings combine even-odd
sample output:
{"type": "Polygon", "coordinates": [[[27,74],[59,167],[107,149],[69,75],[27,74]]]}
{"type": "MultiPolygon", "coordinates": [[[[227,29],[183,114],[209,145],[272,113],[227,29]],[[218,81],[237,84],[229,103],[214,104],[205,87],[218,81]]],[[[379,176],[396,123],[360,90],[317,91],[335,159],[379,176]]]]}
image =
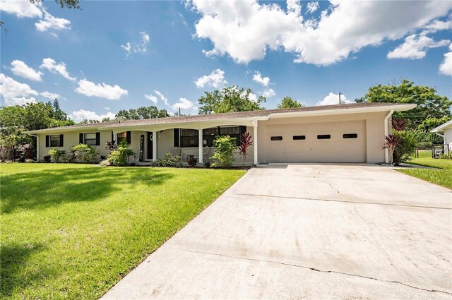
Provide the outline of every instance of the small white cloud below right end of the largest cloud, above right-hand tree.
{"type": "Polygon", "coordinates": [[[444,47],[450,43],[449,40],[434,41],[425,35],[409,35],[403,44],[389,52],[388,59],[422,59],[431,48],[444,47]]]}

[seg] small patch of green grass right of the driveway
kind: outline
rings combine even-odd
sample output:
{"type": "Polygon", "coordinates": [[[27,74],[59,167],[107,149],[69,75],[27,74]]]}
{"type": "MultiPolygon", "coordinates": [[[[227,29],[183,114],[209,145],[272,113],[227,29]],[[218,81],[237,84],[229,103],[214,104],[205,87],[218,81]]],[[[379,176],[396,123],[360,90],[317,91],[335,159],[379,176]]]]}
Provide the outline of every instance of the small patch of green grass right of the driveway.
{"type": "Polygon", "coordinates": [[[452,160],[432,158],[432,151],[420,151],[419,158],[408,163],[439,169],[398,169],[398,172],[452,189],[452,160]]]}

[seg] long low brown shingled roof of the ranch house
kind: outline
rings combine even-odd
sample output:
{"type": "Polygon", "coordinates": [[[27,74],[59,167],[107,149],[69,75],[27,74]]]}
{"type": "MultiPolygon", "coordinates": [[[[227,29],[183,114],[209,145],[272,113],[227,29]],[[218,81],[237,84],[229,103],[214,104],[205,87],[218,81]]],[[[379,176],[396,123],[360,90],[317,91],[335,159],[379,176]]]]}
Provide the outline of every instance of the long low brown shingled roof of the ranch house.
{"type": "MultiPolygon", "coordinates": [[[[104,123],[92,123],[92,124],[77,124],[72,126],[64,126],[61,128],[84,128],[84,127],[122,127],[122,126],[139,126],[139,125],[157,125],[157,124],[171,124],[171,123],[189,123],[196,121],[210,121],[218,119],[241,119],[241,118],[252,118],[259,116],[269,116],[274,113],[285,113],[285,112],[313,112],[313,111],[326,111],[333,109],[354,109],[354,108],[364,108],[364,107],[388,107],[388,106],[398,106],[398,103],[381,103],[381,102],[365,102],[365,103],[350,103],[350,104],[335,104],[335,105],[322,105],[322,106],[312,106],[312,107],[297,107],[290,109],[267,109],[267,110],[256,110],[251,112],[228,112],[223,114],[198,114],[193,116],[169,116],[167,118],[159,119],[141,119],[141,120],[124,120],[124,121],[114,121],[114,122],[104,122],[104,123]]],[[[56,128],[52,128],[56,129],[56,128]]]]}

